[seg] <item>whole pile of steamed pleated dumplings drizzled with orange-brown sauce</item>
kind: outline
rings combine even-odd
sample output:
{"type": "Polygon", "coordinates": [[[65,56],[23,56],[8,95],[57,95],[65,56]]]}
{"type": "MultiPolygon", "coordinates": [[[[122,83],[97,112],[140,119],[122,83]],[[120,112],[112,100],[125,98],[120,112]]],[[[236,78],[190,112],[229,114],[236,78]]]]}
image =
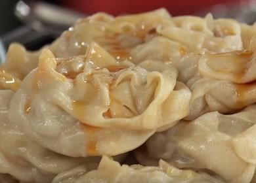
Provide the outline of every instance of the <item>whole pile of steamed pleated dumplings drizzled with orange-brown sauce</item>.
{"type": "Polygon", "coordinates": [[[0,65],[0,182],[256,182],[256,25],[78,20],[0,65]]]}

